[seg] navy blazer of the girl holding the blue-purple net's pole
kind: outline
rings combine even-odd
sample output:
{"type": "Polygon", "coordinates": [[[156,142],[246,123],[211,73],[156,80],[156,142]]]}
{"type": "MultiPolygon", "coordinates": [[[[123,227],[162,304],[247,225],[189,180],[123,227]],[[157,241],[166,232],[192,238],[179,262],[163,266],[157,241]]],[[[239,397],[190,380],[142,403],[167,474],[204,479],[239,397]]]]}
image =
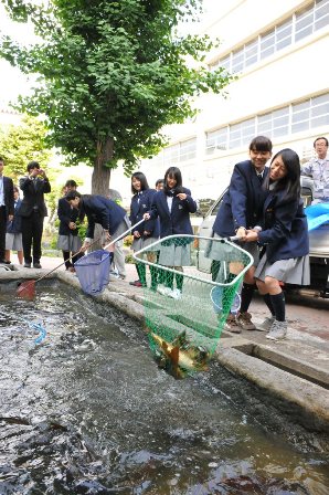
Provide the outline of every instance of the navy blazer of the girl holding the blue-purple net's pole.
{"type": "MultiPolygon", "coordinates": [[[[142,219],[144,213],[151,209],[152,200],[155,194],[157,193],[156,189],[146,189],[141,191],[139,194],[136,193],[131,198],[130,203],[130,222],[131,225],[139,222],[142,219]]],[[[144,234],[145,231],[150,232],[150,238],[159,236],[159,222],[158,220],[147,220],[144,223],[140,223],[136,229],[140,235],[144,234]]],[[[134,233],[134,232],[132,232],[134,233]]]]}

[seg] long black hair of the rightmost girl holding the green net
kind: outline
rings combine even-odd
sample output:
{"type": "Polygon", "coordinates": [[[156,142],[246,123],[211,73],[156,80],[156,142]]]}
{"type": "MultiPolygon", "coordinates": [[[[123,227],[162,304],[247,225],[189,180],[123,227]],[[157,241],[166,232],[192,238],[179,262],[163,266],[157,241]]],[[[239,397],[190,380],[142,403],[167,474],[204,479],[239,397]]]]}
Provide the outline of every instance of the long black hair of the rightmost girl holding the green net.
{"type": "MultiPolygon", "coordinates": [[[[270,160],[270,164],[278,157],[286,167],[287,175],[275,183],[275,190],[286,190],[286,198],[288,200],[300,197],[300,161],[296,151],[290,148],[284,148],[278,151],[270,160]]],[[[267,186],[270,182],[269,173],[267,175],[267,186]]]]}

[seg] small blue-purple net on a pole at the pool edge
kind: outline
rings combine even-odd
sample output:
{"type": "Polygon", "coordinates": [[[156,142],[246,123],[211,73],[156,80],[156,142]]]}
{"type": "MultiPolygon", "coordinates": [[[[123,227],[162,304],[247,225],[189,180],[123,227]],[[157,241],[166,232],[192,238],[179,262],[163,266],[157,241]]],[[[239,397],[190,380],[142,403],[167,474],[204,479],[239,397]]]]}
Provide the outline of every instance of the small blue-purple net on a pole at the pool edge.
{"type": "Polygon", "coordinates": [[[92,251],[74,263],[82,289],[89,295],[99,294],[109,282],[110,256],[108,251],[92,251]]]}

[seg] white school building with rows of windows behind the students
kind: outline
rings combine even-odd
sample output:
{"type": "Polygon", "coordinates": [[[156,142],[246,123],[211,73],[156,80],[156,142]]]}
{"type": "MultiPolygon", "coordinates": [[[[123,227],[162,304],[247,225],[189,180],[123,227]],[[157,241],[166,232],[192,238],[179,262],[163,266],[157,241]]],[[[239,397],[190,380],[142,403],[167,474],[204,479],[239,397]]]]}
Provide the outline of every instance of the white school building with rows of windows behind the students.
{"type": "Polygon", "coordinates": [[[238,77],[226,98],[202,95],[193,120],[163,129],[169,146],[140,167],[150,187],[179,167],[199,199],[219,197],[256,135],[268,136],[274,151],[295,149],[301,162],[314,156],[316,137],[329,138],[329,0],[213,4],[201,32],[222,43],[208,55],[209,71],[223,66],[238,77]]]}

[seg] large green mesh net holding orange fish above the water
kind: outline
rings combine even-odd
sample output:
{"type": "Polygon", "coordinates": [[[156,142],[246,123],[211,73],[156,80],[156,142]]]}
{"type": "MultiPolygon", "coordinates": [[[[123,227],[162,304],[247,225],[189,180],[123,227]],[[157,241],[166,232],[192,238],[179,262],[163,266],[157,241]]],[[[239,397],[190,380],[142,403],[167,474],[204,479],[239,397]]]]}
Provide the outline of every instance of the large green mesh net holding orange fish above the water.
{"type": "Polygon", "coordinates": [[[177,377],[205,369],[252,256],[215,238],[171,235],[135,253],[150,348],[177,377]]]}

